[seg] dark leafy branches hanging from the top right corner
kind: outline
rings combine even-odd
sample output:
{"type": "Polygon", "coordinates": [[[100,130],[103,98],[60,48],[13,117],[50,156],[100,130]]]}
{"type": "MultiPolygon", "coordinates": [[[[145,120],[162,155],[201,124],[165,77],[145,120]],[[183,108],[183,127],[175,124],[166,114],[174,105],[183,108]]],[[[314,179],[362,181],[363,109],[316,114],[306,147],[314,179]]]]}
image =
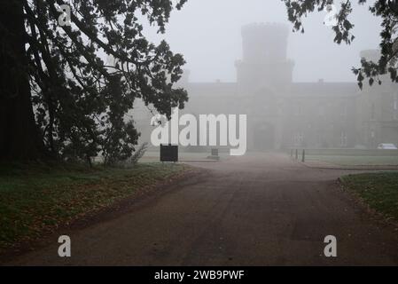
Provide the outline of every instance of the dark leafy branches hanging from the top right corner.
{"type": "MultiPolygon", "coordinates": [[[[282,0],[287,8],[288,20],[293,22],[293,30],[304,32],[301,19],[315,9],[324,11],[337,1],[333,0],[282,0]]],[[[367,0],[357,0],[358,4],[365,4],[367,0]]],[[[348,16],[353,11],[352,1],[344,0],[339,2],[339,12],[336,14],[336,25],[333,26],[335,32],[335,43],[350,44],[355,36],[352,34],[354,24],[348,20],[348,16]]],[[[389,74],[392,82],[398,82],[397,59],[398,59],[398,0],[377,0],[369,7],[370,12],[382,19],[382,31],[380,33],[380,59],[373,62],[369,59],[361,59],[361,67],[353,67],[353,72],[357,75],[359,87],[363,88],[363,80],[367,78],[369,84],[374,82],[381,84],[381,76],[389,74]]]]}

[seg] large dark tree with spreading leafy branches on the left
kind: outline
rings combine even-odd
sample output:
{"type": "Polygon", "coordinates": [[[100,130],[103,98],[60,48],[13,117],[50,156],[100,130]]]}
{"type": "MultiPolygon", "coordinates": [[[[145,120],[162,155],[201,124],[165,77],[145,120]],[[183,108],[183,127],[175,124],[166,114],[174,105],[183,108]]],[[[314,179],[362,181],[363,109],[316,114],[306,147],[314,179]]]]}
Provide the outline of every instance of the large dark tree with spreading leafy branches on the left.
{"type": "Polygon", "coordinates": [[[127,117],[135,99],[168,116],[188,99],[175,88],[183,56],[149,43],[137,14],[164,33],[185,2],[4,1],[0,160],[129,158],[139,137],[127,117]],[[118,64],[107,66],[107,56],[118,64]]]}

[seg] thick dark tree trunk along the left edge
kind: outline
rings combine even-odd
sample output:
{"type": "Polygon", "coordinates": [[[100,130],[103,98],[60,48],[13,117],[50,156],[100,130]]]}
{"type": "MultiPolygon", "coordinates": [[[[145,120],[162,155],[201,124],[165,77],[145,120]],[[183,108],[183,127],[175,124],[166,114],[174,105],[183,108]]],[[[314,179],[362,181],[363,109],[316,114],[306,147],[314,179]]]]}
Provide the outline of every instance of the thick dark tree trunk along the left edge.
{"type": "Polygon", "coordinates": [[[0,161],[43,156],[27,75],[22,2],[4,1],[0,9],[0,161]]]}

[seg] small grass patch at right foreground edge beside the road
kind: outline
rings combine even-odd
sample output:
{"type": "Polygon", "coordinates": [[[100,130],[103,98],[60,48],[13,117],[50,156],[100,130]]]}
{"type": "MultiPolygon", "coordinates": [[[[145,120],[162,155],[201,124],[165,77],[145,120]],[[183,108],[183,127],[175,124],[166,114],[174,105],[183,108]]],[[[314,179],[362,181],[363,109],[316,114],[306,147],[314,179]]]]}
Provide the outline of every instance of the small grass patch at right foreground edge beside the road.
{"type": "Polygon", "coordinates": [[[371,209],[398,221],[398,172],[349,175],[341,180],[371,209]]]}

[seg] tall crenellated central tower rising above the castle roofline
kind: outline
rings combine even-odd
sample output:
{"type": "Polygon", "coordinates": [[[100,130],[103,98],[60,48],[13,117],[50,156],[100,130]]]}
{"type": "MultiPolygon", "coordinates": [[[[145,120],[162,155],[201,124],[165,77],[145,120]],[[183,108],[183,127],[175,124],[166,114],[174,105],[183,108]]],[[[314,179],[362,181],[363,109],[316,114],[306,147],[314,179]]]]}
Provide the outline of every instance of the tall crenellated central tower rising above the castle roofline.
{"type": "Polygon", "coordinates": [[[236,62],[237,81],[250,90],[282,88],[292,83],[293,61],[287,59],[288,28],[251,24],[242,28],[243,59],[236,62]]]}

